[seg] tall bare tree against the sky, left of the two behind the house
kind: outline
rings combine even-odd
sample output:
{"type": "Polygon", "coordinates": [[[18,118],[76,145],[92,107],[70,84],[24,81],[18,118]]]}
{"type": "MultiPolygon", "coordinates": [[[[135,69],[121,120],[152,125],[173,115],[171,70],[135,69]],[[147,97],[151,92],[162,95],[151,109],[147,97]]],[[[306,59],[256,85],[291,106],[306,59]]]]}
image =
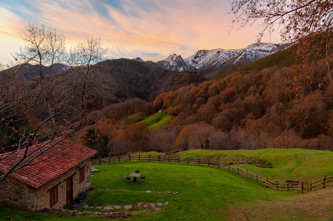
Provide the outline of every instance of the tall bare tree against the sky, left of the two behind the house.
{"type": "MultiPolygon", "coordinates": [[[[46,29],[45,25],[41,28],[35,27],[29,22],[25,31],[21,33],[24,47],[19,52],[15,52],[13,57],[19,65],[19,71],[24,72],[24,76],[39,83],[42,99],[45,101],[49,117],[52,116],[50,98],[51,88],[57,82],[47,85],[44,76],[53,68],[55,63],[62,63],[66,54],[65,36],[58,34],[56,29],[46,29]],[[39,76],[35,76],[38,74],[39,76]]],[[[56,127],[54,118],[51,118],[53,127],[56,127]]]]}

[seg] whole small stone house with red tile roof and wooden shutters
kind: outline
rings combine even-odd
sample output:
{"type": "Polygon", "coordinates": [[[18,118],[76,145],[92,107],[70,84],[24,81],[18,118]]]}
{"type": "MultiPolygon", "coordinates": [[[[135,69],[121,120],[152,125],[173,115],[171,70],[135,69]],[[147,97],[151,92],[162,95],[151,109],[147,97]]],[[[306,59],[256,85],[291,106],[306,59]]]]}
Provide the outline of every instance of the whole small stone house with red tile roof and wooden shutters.
{"type": "MultiPolygon", "coordinates": [[[[23,157],[26,149],[0,154],[0,175],[23,157]]],[[[28,147],[33,161],[0,183],[2,204],[29,211],[59,209],[91,187],[91,157],[96,150],[68,140],[28,147]]]]}

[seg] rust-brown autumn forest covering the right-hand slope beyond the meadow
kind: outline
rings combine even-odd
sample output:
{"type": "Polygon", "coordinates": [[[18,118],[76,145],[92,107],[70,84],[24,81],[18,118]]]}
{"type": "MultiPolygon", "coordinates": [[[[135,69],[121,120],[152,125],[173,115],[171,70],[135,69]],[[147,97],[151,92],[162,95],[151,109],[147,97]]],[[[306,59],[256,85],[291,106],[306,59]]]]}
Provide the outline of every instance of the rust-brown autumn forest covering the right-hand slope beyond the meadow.
{"type": "Polygon", "coordinates": [[[110,153],[134,150],[134,142],[122,135],[126,126],[119,127],[118,121],[139,111],[153,114],[160,109],[173,116],[172,120],[148,131],[137,141],[135,150],[331,149],[333,90],[325,84],[318,87],[327,70],[320,67],[317,82],[300,94],[292,87],[300,65],[290,66],[295,63],[290,55],[291,51],[281,51],[256,61],[258,70],[250,64],[217,80],[161,93],[154,102],[132,99],[120,103],[110,116],[118,131],[113,141],[117,145],[110,153]]]}

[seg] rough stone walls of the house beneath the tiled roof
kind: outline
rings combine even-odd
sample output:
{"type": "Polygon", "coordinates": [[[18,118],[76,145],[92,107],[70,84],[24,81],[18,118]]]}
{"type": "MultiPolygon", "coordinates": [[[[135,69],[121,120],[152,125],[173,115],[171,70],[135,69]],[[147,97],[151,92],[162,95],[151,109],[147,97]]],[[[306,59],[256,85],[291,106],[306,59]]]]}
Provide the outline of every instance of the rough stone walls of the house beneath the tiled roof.
{"type": "Polygon", "coordinates": [[[91,159],[81,163],[74,169],[51,181],[45,186],[36,189],[14,178],[7,178],[0,183],[0,200],[5,205],[17,206],[28,209],[30,211],[41,210],[50,208],[50,190],[52,187],[58,185],[58,202],[52,206],[53,209],[62,208],[66,204],[66,178],[73,174],[73,199],[75,199],[80,192],[88,190],[91,187],[91,159]],[[80,183],[79,169],[85,166],[85,179],[80,183]]]}

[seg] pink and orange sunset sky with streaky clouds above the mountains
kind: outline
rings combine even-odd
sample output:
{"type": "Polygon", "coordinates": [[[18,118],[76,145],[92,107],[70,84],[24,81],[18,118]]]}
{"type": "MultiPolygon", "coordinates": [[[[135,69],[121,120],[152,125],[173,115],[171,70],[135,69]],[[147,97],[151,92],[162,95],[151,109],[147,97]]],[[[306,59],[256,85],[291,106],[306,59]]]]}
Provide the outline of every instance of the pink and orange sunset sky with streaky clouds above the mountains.
{"type": "MultiPolygon", "coordinates": [[[[239,49],[256,41],[256,26],[229,34],[229,0],[0,0],[0,60],[23,45],[28,22],[46,24],[66,36],[67,46],[101,36],[108,58],[159,61],[186,58],[200,49],[239,49]]],[[[262,42],[269,42],[266,35],[262,42]]],[[[279,33],[271,43],[281,42],[279,33]]]]}

